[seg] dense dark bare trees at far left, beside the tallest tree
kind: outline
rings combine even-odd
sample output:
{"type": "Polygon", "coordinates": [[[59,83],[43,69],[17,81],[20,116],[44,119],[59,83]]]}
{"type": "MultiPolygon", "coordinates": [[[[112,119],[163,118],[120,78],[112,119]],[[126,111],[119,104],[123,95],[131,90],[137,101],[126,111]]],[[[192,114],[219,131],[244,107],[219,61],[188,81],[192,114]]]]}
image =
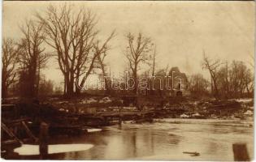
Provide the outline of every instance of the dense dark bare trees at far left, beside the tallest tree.
{"type": "Polygon", "coordinates": [[[18,81],[20,94],[37,96],[40,69],[46,66],[49,54],[42,44],[45,40],[43,26],[26,21],[20,27],[19,41],[6,38],[2,43],[2,97],[7,96],[11,83],[18,81]],[[18,79],[17,79],[18,78],[18,79]]]}

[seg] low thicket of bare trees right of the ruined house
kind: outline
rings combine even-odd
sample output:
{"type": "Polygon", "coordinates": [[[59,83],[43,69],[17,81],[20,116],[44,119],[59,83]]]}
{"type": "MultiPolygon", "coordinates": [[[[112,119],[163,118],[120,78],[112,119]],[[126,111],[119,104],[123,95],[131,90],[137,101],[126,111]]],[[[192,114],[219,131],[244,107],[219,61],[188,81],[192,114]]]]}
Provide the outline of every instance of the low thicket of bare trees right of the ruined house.
{"type": "Polygon", "coordinates": [[[202,68],[210,73],[210,80],[202,75],[192,75],[189,90],[194,95],[211,95],[215,98],[241,98],[253,96],[254,75],[245,62],[221,62],[203,56],[202,68]]]}

